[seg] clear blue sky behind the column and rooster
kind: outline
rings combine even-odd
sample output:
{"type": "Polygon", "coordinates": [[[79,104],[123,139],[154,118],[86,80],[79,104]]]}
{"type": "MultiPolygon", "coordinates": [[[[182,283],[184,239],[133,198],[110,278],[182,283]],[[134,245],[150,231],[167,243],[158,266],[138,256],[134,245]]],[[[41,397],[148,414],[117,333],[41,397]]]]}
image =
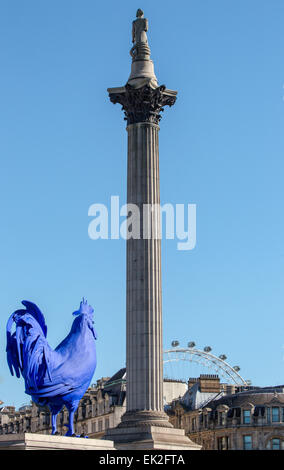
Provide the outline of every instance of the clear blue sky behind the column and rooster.
{"type": "Polygon", "coordinates": [[[57,344],[94,306],[94,381],[125,365],[125,241],[88,238],[88,208],[126,196],[127,135],[108,87],[130,73],[131,22],[149,20],[160,84],[163,203],[197,205],[197,245],[163,241],[164,346],[225,353],[255,385],[284,383],[283,0],[1,0],[0,399],[5,326],[36,302],[57,344]]]}

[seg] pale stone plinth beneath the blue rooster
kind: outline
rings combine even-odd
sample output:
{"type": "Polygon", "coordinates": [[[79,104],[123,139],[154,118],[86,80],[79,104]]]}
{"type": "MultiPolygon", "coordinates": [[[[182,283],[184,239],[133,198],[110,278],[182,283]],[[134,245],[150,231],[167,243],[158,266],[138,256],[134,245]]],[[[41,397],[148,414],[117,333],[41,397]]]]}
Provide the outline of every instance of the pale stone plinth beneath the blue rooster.
{"type": "Polygon", "coordinates": [[[0,436],[0,450],[115,450],[112,441],[47,434],[0,436]]]}

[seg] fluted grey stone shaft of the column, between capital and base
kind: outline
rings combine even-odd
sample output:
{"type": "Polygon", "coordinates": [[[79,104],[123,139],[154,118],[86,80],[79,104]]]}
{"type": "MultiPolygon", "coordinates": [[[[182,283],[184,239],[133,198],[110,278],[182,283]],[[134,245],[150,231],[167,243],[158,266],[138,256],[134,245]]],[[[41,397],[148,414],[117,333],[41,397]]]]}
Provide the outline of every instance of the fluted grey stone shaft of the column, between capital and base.
{"type": "Polygon", "coordinates": [[[135,123],[128,131],[127,203],[140,210],[140,239],[127,240],[127,411],[163,410],[159,126],[135,123]],[[150,207],[151,207],[150,206],[150,207]],[[143,215],[144,214],[144,215],[143,215]],[[149,239],[143,238],[150,222],[149,239]],[[157,235],[157,236],[156,236],[157,235]]]}

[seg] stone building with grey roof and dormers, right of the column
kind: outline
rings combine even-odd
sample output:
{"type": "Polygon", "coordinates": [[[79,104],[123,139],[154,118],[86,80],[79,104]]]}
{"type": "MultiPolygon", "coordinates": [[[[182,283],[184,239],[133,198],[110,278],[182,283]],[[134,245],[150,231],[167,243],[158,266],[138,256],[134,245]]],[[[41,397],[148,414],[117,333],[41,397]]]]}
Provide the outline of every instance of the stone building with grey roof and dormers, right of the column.
{"type": "Polygon", "coordinates": [[[284,450],[284,386],[230,389],[200,376],[168,413],[203,450],[284,450]]]}

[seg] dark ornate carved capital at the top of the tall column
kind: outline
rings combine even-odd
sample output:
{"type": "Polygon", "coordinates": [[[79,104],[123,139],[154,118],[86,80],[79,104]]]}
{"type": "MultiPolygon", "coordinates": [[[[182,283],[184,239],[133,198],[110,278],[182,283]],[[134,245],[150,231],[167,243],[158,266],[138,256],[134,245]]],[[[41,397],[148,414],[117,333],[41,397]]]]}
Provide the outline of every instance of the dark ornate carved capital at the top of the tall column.
{"type": "Polygon", "coordinates": [[[164,106],[172,106],[176,101],[177,92],[167,90],[164,85],[152,88],[148,84],[134,88],[126,85],[115,91],[109,90],[112,103],[120,103],[127,124],[149,122],[158,124],[164,111],[164,106]]]}

